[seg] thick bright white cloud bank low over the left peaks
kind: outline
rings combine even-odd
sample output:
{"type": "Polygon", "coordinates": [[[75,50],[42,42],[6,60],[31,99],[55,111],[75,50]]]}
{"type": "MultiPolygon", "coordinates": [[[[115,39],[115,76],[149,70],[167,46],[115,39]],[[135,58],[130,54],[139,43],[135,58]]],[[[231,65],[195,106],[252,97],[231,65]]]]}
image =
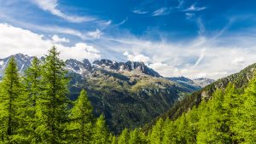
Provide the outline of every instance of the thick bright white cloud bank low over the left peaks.
{"type": "MultiPolygon", "coordinates": [[[[43,56],[47,54],[52,45],[52,39],[45,39],[43,35],[0,23],[1,58],[17,53],[43,56]]],[[[60,56],[64,60],[70,58],[78,60],[83,60],[84,58],[98,59],[101,57],[99,50],[86,43],[76,43],[71,47],[56,43],[55,46],[61,51],[60,56]]]]}

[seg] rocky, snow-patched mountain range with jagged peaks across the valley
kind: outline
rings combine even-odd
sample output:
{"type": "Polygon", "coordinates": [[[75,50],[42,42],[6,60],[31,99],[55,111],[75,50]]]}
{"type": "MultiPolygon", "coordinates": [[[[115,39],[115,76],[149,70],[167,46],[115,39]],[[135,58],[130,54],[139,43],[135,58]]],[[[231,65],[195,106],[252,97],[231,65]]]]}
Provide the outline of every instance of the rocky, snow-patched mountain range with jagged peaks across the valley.
{"type": "MultiPolygon", "coordinates": [[[[22,54],[12,56],[20,73],[31,65],[33,58],[22,54]]],[[[0,60],[1,76],[9,58],[0,60]]],[[[96,60],[91,64],[86,59],[70,59],[66,60],[66,69],[71,78],[71,100],[77,98],[81,89],[86,89],[94,113],[104,113],[110,130],[115,133],[150,122],[185,95],[200,89],[163,78],[143,62],[96,60]]]]}

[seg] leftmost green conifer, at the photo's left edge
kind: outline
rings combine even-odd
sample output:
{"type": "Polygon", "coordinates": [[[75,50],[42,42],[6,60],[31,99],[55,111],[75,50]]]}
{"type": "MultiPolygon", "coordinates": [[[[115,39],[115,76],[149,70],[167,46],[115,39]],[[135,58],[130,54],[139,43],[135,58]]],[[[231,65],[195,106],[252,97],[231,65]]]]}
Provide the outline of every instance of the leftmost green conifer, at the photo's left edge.
{"type": "Polygon", "coordinates": [[[19,128],[19,114],[17,109],[20,107],[20,96],[22,94],[22,85],[14,57],[9,60],[3,82],[1,83],[0,96],[0,133],[3,143],[15,143],[19,128]]]}

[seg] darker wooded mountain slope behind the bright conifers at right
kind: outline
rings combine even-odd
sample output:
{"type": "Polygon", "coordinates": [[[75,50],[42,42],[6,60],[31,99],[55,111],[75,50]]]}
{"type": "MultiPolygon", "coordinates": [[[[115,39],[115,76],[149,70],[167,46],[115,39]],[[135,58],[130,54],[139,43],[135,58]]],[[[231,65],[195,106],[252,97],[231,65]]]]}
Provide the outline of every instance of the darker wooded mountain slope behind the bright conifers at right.
{"type": "MultiPolygon", "coordinates": [[[[156,120],[159,118],[179,118],[183,112],[189,112],[192,107],[198,107],[202,100],[209,100],[216,89],[225,89],[229,83],[235,84],[236,88],[238,89],[245,88],[249,81],[253,78],[255,70],[256,63],[251,66],[247,66],[245,69],[241,70],[241,72],[237,72],[226,78],[220,78],[212,84],[208,84],[203,89],[195,91],[192,94],[184,97],[182,101],[177,101],[177,103],[175,103],[170,110],[163,113],[160,117],[155,118],[151,123],[146,124],[143,129],[149,130],[152,124],[155,124],[156,120]]],[[[207,82],[210,81],[211,80],[207,80],[207,82]]],[[[201,82],[201,79],[199,82],[201,82]]]]}

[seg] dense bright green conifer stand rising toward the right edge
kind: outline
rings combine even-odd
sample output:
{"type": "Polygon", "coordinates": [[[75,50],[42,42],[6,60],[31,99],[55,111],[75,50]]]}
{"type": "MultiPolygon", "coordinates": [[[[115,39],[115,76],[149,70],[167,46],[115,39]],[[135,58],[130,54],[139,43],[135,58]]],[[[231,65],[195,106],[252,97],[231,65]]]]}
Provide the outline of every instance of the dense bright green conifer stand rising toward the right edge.
{"type": "Polygon", "coordinates": [[[246,89],[229,84],[177,120],[160,118],[149,143],[256,143],[256,79],[246,89]]]}

